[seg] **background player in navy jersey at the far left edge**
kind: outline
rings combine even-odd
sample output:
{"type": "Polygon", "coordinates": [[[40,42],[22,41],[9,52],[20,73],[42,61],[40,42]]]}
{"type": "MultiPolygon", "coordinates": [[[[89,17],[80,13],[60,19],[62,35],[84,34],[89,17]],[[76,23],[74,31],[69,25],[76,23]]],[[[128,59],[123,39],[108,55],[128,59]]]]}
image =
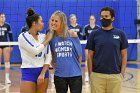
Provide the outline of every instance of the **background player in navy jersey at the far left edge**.
{"type": "MultiPolygon", "coordinates": [[[[0,13],[0,42],[9,42],[13,41],[11,27],[8,23],[5,22],[5,14],[0,13]]],[[[9,79],[10,73],[10,52],[12,47],[9,45],[1,46],[0,45],[0,66],[2,60],[2,54],[4,55],[5,63],[5,83],[10,84],[11,80],[9,79]]]]}

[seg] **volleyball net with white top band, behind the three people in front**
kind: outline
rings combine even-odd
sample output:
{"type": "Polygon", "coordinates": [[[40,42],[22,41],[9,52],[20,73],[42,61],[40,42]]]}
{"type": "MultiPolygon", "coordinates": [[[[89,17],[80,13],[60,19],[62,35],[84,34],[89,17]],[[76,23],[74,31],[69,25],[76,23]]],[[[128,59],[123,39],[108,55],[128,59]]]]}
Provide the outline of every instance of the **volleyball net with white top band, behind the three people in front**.
{"type": "MultiPolygon", "coordinates": [[[[83,49],[83,60],[85,60],[84,46],[87,40],[80,40],[83,49]]],[[[128,61],[139,61],[140,60],[140,39],[128,39],[128,61]]],[[[21,56],[18,48],[18,42],[0,42],[0,46],[13,45],[14,51],[11,54],[13,63],[21,63],[21,56]]]]}

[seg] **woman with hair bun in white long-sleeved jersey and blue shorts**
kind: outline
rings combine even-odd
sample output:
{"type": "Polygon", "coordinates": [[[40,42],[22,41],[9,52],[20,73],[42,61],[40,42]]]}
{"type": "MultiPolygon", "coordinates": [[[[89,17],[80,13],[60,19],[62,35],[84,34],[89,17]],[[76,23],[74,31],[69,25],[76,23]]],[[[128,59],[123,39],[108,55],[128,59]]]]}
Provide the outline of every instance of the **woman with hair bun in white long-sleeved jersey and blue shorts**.
{"type": "Polygon", "coordinates": [[[21,85],[20,93],[46,93],[49,78],[51,52],[48,42],[53,33],[39,33],[43,29],[42,17],[31,8],[27,10],[26,23],[29,31],[18,37],[21,52],[21,85]]]}

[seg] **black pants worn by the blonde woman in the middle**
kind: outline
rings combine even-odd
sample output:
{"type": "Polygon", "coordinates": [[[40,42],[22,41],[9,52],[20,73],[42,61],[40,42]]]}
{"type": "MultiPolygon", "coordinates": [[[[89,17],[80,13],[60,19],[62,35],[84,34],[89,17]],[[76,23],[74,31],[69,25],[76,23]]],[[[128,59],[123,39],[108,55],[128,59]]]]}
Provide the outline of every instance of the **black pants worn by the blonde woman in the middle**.
{"type": "Polygon", "coordinates": [[[68,86],[71,93],[82,93],[82,76],[59,77],[54,76],[56,93],[67,93],[68,86]]]}

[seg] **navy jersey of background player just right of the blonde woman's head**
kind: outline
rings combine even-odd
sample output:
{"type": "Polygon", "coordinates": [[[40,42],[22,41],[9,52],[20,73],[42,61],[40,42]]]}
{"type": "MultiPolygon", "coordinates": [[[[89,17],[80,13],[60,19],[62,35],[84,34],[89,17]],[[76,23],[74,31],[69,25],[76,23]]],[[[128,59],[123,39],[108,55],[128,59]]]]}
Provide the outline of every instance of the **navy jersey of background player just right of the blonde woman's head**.
{"type": "Polygon", "coordinates": [[[80,40],[83,39],[83,33],[82,33],[82,27],[80,25],[77,25],[75,27],[73,27],[72,25],[69,26],[69,30],[72,30],[74,32],[77,32],[77,35],[79,37],[80,40]]]}

